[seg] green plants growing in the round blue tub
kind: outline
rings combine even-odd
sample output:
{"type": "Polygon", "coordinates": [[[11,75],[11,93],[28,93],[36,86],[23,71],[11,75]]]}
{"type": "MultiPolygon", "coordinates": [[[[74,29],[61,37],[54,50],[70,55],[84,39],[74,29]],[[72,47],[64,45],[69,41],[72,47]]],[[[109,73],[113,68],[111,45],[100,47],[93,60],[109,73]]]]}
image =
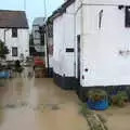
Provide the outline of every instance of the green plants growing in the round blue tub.
{"type": "Polygon", "coordinates": [[[93,102],[103,101],[107,99],[107,93],[101,89],[94,89],[87,92],[87,98],[93,102]]]}

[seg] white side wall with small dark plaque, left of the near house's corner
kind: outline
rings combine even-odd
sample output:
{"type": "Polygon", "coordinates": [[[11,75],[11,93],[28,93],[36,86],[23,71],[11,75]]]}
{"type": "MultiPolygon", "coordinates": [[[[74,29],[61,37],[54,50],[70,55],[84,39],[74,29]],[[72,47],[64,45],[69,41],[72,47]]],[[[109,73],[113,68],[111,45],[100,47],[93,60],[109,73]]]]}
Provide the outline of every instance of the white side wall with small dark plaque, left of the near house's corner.
{"type": "Polygon", "coordinates": [[[53,23],[54,31],[54,73],[75,77],[75,53],[66,49],[75,49],[74,4],[67,8],[66,13],[56,17],[53,23]]]}

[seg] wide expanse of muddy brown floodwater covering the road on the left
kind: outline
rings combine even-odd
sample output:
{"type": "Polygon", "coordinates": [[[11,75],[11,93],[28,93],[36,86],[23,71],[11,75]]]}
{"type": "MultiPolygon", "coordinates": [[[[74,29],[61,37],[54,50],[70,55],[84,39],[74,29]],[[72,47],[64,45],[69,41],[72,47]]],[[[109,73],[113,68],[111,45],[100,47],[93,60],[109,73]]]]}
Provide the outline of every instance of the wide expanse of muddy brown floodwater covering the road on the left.
{"type": "Polygon", "coordinates": [[[0,80],[0,130],[89,130],[75,92],[52,79],[27,78],[27,72],[0,80]]]}

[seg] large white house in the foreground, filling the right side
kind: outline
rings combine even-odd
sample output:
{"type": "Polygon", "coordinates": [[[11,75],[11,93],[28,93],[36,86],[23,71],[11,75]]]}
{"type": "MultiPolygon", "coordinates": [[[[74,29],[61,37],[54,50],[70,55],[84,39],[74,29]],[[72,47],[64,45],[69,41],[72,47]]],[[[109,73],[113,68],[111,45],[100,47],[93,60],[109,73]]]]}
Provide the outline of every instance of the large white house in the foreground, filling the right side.
{"type": "Polygon", "coordinates": [[[130,86],[130,1],[68,0],[53,14],[54,79],[70,89],[130,86]]]}

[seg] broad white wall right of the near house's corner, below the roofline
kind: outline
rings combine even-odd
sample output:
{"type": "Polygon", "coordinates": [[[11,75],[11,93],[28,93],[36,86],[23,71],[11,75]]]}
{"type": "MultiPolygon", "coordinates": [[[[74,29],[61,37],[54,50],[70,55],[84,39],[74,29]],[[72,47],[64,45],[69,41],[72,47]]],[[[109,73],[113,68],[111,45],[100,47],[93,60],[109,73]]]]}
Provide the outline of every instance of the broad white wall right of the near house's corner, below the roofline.
{"type": "Polygon", "coordinates": [[[125,10],[114,5],[83,5],[81,86],[130,84],[130,28],[125,27],[125,10]],[[99,12],[103,10],[99,28],[99,12]],[[88,72],[84,69],[88,68],[88,72]]]}

